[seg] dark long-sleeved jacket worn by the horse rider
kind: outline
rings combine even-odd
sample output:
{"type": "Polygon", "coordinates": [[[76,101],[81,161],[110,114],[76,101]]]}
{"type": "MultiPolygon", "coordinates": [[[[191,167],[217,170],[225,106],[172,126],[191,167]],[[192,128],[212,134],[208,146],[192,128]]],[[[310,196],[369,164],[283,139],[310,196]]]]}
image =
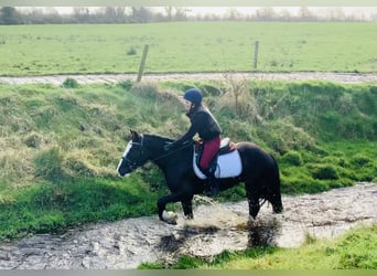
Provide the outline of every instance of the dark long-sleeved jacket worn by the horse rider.
{"type": "Polygon", "coordinates": [[[192,140],[196,134],[204,141],[212,140],[222,134],[222,128],[217,120],[203,105],[196,106],[187,116],[191,120],[191,127],[186,134],[174,142],[174,146],[180,146],[185,141],[192,140]]]}

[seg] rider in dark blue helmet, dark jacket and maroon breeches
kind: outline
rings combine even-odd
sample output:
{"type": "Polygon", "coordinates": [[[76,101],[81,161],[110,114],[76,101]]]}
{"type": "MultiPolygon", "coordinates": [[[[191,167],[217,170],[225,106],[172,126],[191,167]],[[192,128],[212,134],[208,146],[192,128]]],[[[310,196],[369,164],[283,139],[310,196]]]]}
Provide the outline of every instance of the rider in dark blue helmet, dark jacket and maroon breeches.
{"type": "Polygon", "coordinates": [[[185,99],[185,112],[190,118],[191,127],[187,132],[174,142],[168,144],[165,150],[174,149],[190,141],[198,134],[204,144],[203,155],[200,161],[200,169],[207,177],[208,187],[205,191],[207,195],[216,195],[219,187],[216,181],[215,171],[209,169],[211,160],[216,156],[220,145],[222,128],[209,109],[202,104],[203,95],[197,88],[187,89],[183,98],[185,99]]]}

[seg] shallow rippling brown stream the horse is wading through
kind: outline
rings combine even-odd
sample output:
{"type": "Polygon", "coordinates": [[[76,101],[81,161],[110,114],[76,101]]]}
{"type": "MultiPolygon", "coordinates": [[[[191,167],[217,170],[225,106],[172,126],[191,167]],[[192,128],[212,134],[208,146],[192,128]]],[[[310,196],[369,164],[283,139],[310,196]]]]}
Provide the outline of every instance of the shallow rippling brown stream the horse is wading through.
{"type": "Polygon", "coordinates": [[[265,204],[254,222],[247,202],[218,204],[195,198],[193,221],[177,225],[157,216],[35,235],[0,245],[0,268],[134,268],[141,262],[169,262],[182,254],[206,256],[256,244],[299,246],[305,234],[335,237],[359,224],[377,222],[377,184],[359,183],[320,194],[283,197],[283,214],[265,204]]]}

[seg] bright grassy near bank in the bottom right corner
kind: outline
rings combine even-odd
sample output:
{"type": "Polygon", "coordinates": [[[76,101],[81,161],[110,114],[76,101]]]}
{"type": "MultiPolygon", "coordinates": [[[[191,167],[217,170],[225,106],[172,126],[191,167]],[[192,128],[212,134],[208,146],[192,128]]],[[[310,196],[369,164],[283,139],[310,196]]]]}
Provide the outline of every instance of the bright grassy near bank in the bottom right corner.
{"type": "Polygon", "coordinates": [[[139,268],[376,269],[376,248],[374,225],[352,230],[334,241],[308,237],[299,248],[254,247],[238,253],[224,252],[212,259],[184,256],[175,264],[142,264],[139,268]]]}

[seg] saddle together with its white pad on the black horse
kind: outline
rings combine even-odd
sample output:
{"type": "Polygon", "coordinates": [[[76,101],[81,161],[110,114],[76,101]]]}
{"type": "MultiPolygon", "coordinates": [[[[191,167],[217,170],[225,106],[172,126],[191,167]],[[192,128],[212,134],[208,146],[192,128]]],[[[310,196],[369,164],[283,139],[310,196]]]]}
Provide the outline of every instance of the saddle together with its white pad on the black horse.
{"type": "MultiPolygon", "coordinates": [[[[196,176],[205,179],[206,177],[200,169],[200,161],[203,155],[203,149],[204,144],[201,141],[196,141],[194,145],[193,162],[196,176]]],[[[222,139],[216,156],[209,162],[209,170],[215,172],[216,178],[235,177],[240,173],[240,158],[237,150],[237,145],[230,141],[228,137],[222,139]]]]}

